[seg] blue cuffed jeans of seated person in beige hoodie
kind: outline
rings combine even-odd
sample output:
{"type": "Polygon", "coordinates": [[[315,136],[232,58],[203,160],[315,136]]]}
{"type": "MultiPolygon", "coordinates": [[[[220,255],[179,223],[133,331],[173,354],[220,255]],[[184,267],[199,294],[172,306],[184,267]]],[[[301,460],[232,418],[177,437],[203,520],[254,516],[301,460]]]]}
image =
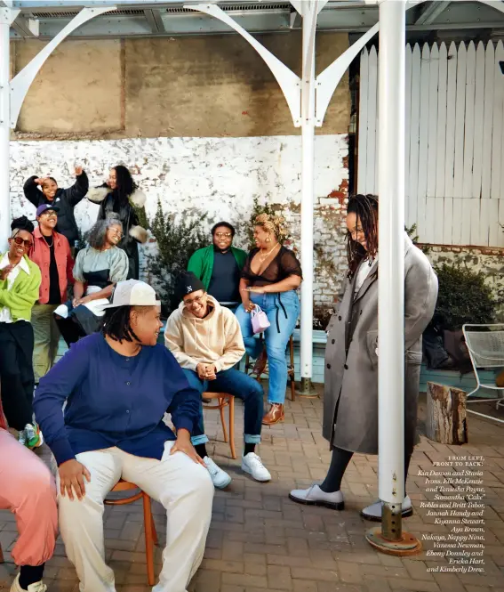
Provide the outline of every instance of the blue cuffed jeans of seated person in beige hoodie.
{"type": "MultiPolygon", "coordinates": [[[[193,370],[184,369],[184,374],[189,385],[199,393],[229,393],[244,401],[244,441],[246,444],[259,444],[264,391],[257,380],[235,369],[218,372],[215,380],[202,380],[193,370]]],[[[193,430],[191,442],[193,446],[208,442],[208,437],[204,434],[203,402],[200,403],[198,425],[193,430]]]]}

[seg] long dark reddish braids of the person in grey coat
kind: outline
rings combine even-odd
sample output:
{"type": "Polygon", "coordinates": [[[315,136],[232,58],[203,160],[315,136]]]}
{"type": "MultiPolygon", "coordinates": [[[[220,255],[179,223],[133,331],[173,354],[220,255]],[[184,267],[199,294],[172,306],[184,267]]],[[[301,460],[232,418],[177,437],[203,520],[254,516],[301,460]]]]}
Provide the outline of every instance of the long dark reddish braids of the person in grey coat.
{"type": "Polygon", "coordinates": [[[358,193],[348,199],[347,215],[355,214],[364,231],[367,250],[347,231],[348,278],[351,280],[359,265],[370,257],[374,259],[378,253],[378,196],[358,193]]]}

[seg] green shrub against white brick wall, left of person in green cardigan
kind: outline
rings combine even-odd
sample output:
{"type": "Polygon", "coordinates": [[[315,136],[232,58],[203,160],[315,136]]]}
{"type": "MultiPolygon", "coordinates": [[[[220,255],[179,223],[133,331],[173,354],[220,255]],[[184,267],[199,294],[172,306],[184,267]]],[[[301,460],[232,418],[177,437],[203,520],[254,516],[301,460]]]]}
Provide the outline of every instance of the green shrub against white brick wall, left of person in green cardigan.
{"type": "Polygon", "coordinates": [[[180,304],[175,298],[177,276],[188,268],[189,257],[209,244],[208,232],[203,226],[205,219],[206,214],[195,212],[177,222],[175,215],[164,214],[161,201],[157,201],[156,215],[150,223],[157,253],[148,257],[148,272],[155,276],[153,283],[161,296],[164,317],[180,304]]]}

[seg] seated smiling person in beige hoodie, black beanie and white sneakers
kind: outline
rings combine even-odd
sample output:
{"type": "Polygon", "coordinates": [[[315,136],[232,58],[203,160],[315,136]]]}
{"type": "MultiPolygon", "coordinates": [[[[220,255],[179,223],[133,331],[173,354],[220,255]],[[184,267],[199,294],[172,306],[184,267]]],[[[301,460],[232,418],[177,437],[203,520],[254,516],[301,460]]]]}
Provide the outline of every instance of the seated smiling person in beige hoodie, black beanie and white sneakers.
{"type": "MultiPolygon", "coordinates": [[[[244,339],[236,316],[204,291],[203,283],[187,272],[178,282],[179,309],[166,324],[166,347],[180,363],[189,385],[200,393],[230,393],[244,401],[244,454],[242,469],[257,481],[269,481],[271,475],[255,454],[260,442],[263,415],[263,390],[260,383],[233,366],[245,353],[244,339]]],[[[203,406],[191,439],[204,459],[215,487],[224,488],[231,477],[217,466],[206,452],[203,406]]]]}

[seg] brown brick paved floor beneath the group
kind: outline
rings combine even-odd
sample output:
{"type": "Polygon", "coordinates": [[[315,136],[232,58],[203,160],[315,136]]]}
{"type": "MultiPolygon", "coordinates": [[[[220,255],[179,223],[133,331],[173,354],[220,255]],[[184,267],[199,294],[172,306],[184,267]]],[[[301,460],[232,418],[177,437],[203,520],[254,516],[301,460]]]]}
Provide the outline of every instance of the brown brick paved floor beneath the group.
{"type": "MultiPolygon", "coordinates": [[[[236,442],[243,434],[242,407],[237,403],[236,442]]],[[[423,405],[420,403],[420,418],[423,405]]],[[[432,499],[425,493],[419,468],[428,469],[435,460],[463,453],[483,455],[485,509],[485,572],[427,572],[430,561],[424,554],[397,558],[375,552],[364,539],[372,523],[364,522],[358,511],[375,499],[377,459],[356,455],[348,466],[343,490],[346,509],[333,512],[324,508],[302,507],[287,497],[293,487],[308,486],[324,478],[330,453],[320,434],[322,402],[299,399],[287,401],[285,423],[265,428],[260,455],[273,475],[271,483],[255,483],[242,474],[239,461],[229,458],[228,444],[222,441],[218,413],[206,412],[209,452],[233,476],[227,491],[217,491],[204,562],[191,582],[190,592],[490,592],[504,590],[504,426],[469,417],[468,446],[449,447],[422,437],[412,458],[408,491],[415,514],[404,528],[417,537],[422,533],[446,531],[434,524],[420,500],[432,499]]],[[[48,458],[47,450],[43,457],[48,458]]],[[[156,549],[159,571],[164,543],[164,511],[154,504],[156,528],[161,547],[156,549]]],[[[140,502],[131,506],[107,507],[106,548],[109,564],[116,572],[118,592],[147,592],[140,502]]],[[[0,565],[0,589],[8,589],[15,572],[9,549],[15,539],[15,523],[0,512],[0,541],[6,562],[0,565]]],[[[432,548],[424,541],[424,548],[432,548]]],[[[78,590],[76,573],[65,557],[59,540],[56,554],[48,563],[45,582],[49,592],[78,590]]]]}

